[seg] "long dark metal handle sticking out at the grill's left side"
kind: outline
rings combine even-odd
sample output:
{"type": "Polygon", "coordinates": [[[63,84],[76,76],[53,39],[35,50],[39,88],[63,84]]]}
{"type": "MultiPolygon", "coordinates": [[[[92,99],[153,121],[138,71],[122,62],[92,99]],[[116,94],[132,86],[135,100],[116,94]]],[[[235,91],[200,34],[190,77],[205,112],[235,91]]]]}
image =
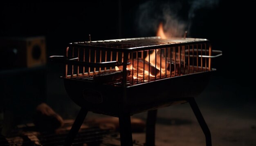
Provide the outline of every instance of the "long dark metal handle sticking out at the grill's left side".
{"type": "MultiPolygon", "coordinates": [[[[81,65],[81,66],[90,66],[90,67],[113,67],[113,66],[122,66],[124,63],[119,63],[118,61],[109,61],[109,62],[83,62],[79,61],[79,58],[66,57],[66,56],[50,56],[51,61],[70,64],[70,65],[81,65]]],[[[130,62],[127,62],[130,64],[130,62]]]]}

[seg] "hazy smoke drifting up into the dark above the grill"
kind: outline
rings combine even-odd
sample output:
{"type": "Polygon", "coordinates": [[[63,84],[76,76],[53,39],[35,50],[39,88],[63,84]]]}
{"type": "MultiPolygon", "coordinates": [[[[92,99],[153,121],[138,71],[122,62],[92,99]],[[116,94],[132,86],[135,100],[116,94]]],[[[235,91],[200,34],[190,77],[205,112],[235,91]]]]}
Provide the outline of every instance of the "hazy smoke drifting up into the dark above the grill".
{"type": "Polygon", "coordinates": [[[149,0],[139,5],[135,25],[141,35],[155,35],[162,22],[168,38],[182,37],[189,31],[196,11],[213,8],[219,0],[157,1],[149,0]]]}

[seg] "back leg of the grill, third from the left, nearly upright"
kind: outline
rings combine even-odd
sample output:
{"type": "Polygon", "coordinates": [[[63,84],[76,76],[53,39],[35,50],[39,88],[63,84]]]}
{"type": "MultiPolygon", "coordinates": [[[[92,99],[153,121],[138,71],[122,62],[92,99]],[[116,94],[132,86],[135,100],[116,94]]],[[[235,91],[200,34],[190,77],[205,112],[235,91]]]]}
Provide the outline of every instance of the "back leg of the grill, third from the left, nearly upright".
{"type": "Polygon", "coordinates": [[[146,123],[146,146],[155,146],[155,123],[157,110],[148,111],[146,123]]]}

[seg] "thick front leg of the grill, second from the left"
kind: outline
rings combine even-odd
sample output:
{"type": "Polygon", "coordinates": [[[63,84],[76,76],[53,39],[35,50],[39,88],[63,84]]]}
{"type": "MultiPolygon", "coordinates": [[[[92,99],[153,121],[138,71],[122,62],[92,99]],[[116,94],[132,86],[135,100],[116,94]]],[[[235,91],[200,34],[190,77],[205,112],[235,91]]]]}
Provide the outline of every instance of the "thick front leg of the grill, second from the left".
{"type": "Polygon", "coordinates": [[[132,129],[129,113],[123,113],[119,116],[119,131],[121,146],[132,146],[132,129]]]}

